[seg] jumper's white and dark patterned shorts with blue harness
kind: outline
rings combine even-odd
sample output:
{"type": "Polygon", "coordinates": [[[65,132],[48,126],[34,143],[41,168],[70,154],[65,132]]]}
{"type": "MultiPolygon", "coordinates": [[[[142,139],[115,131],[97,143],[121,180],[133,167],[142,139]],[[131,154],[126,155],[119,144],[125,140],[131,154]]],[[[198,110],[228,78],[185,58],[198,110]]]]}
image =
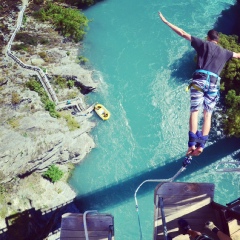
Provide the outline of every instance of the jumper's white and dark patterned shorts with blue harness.
{"type": "Polygon", "coordinates": [[[219,87],[218,78],[202,72],[195,72],[193,74],[192,86],[191,86],[191,112],[199,110],[203,105],[204,110],[212,112],[218,99],[219,99],[219,87]],[[194,88],[194,86],[196,88],[194,88]],[[199,89],[202,89],[200,91],[199,89]]]}

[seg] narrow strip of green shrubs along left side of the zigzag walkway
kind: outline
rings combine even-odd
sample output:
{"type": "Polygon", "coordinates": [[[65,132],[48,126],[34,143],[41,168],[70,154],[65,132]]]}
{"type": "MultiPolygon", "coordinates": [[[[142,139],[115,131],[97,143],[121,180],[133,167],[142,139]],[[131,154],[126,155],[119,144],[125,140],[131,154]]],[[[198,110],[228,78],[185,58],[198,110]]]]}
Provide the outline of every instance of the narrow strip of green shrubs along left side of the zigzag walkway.
{"type": "Polygon", "coordinates": [[[44,90],[44,88],[42,87],[42,85],[35,79],[30,79],[27,83],[26,86],[32,90],[35,91],[39,94],[39,96],[41,97],[41,101],[44,103],[45,105],[45,110],[49,111],[49,114],[54,117],[54,118],[59,118],[59,112],[56,111],[55,109],[55,103],[52,102],[46,91],[44,90]]]}

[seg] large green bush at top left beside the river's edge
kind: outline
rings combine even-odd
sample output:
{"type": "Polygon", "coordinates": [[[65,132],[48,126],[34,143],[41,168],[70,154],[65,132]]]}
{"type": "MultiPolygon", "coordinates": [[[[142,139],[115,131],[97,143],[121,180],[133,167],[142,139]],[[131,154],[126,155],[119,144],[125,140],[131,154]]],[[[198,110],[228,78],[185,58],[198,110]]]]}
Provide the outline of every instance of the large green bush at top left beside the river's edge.
{"type": "Polygon", "coordinates": [[[80,10],[65,8],[50,1],[35,16],[41,21],[51,22],[63,36],[71,37],[75,42],[83,39],[89,22],[80,10]]]}

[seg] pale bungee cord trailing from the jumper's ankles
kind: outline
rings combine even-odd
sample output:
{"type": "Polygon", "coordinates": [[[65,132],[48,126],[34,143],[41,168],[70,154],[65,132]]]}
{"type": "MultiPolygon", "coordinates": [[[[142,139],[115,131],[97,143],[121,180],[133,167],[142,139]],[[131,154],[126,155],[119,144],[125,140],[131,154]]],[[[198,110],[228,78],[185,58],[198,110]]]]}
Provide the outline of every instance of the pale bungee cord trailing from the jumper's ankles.
{"type": "Polygon", "coordinates": [[[187,156],[184,158],[183,163],[182,163],[182,167],[177,171],[177,173],[171,177],[171,178],[167,178],[167,179],[148,179],[143,181],[136,189],[135,193],[134,193],[134,199],[135,199],[135,206],[136,206],[136,211],[138,214],[138,225],[139,225],[139,231],[140,231],[140,240],[142,240],[142,227],[141,227],[141,221],[140,221],[140,215],[139,215],[139,207],[138,207],[138,201],[137,201],[137,192],[140,189],[140,187],[147,182],[173,182],[175,180],[175,178],[177,178],[184,170],[186,170],[187,165],[191,163],[192,157],[191,156],[187,156]]]}

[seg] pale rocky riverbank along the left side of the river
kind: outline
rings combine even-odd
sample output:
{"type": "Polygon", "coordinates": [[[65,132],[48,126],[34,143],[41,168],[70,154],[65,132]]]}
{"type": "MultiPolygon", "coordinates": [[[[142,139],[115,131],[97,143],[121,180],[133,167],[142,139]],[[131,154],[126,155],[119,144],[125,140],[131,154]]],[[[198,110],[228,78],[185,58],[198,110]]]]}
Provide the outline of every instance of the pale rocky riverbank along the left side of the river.
{"type": "MultiPolygon", "coordinates": [[[[76,194],[66,182],[73,164],[82,161],[95,147],[89,135],[95,126],[90,120],[92,113],[76,117],[74,121],[77,121],[79,128],[72,131],[66,118],[52,118],[46,112],[40,96],[26,88],[26,82],[33,78],[35,73],[20,67],[6,55],[6,46],[16,27],[21,1],[4,4],[4,9],[1,10],[6,11],[1,21],[5,29],[1,32],[0,55],[1,229],[7,227],[6,219],[13,215],[16,220],[30,209],[51,209],[54,214],[52,209],[71,202],[76,194]],[[63,179],[55,184],[41,176],[52,164],[58,165],[64,172],[63,179]]],[[[97,83],[92,79],[93,72],[80,66],[78,57],[81,55],[81,43],[73,43],[60,36],[50,25],[37,22],[31,17],[29,6],[19,32],[25,38],[37,40],[37,44],[19,48],[23,41],[14,40],[12,53],[25,64],[47,71],[59,101],[79,97],[87,108],[85,97],[77,87],[61,87],[52,77],[76,76],[83,85],[97,87],[97,83]]],[[[71,111],[66,110],[65,114],[72,119],[71,111]]],[[[24,236],[27,234],[28,232],[25,232],[24,236]]]]}

